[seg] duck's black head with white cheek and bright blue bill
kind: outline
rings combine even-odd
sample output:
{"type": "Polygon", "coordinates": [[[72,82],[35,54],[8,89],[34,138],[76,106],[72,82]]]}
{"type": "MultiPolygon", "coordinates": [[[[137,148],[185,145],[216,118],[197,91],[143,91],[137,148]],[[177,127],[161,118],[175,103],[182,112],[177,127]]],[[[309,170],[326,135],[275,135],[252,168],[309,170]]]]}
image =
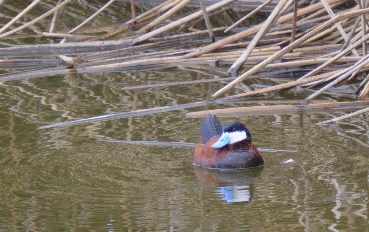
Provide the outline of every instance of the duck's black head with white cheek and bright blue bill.
{"type": "Polygon", "coordinates": [[[224,131],[217,142],[211,145],[212,148],[223,148],[225,145],[231,145],[240,141],[249,139],[251,143],[251,134],[241,122],[230,122],[225,126],[224,131]]]}

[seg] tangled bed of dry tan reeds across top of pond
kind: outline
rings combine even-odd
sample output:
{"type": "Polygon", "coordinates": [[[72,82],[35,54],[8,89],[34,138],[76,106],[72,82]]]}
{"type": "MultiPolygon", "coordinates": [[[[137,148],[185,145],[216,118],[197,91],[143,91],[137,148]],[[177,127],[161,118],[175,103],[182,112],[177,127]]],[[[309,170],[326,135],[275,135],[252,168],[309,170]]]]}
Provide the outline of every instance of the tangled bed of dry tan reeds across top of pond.
{"type": "MultiPolygon", "coordinates": [[[[367,41],[369,39],[369,0],[280,0],[259,1],[255,5],[251,1],[191,1],[168,0],[158,3],[146,12],[138,14],[134,10],[139,1],[131,0],[132,19],[124,22],[110,31],[102,30],[99,35],[79,34],[80,28],[108,7],[114,7],[115,1],[108,1],[77,27],[67,33],[58,32],[56,27],[59,14],[70,0],[59,1],[48,12],[14,28],[15,22],[29,10],[41,4],[33,1],[13,20],[0,28],[0,39],[11,38],[18,31],[32,27],[45,17],[53,15],[49,31],[39,36],[50,38],[50,44],[34,44],[8,46],[0,48],[0,54],[21,56],[22,59],[0,60],[0,67],[17,67],[18,65],[35,65],[39,69],[7,72],[0,75],[0,81],[37,78],[70,72],[110,72],[117,70],[142,70],[179,65],[203,65],[214,67],[224,75],[220,79],[207,79],[183,83],[161,83],[158,85],[126,87],[124,90],[145,89],[162,86],[176,86],[203,82],[222,82],[225,86],[215,91],[213,100],[186,104],[162,109],[148,109],[140,112],[130,112],[124,117],[196,107],[204,104],[227,103],[239,99],[255,97],[278,96],[286,91],[305,91],[310,95],[301,100],[299,105],[284,105],[277,110],[274,106],[242,109],[253,114],[283,111],[309,110],[361,110],[347,116],[325,121],[331,123],[344,120],[369,111],[367,95],[369,93],[369,54],[367,41]],[[184,10],[191,6],[192,12],[184,10]],[[198,4],[198,6],[196,6],[198,4]],[[225,11],[235,10],[249,12],[233,24],[214,27],[211,18],[225,11]],[[241,27],[242,22],[260,11],[268,12],[265,21],[250,27],[241,27]],[[206,30],[193,31],[194,25],[205,21],[206,30]],[[9,28],[13,28],[9,30],[9,28]],[[56,39],[66,39],[66,42],[55,43],[56,39]],[[41,54],[44,59],[27,58],[24,52],[41,54]],[[92,52],[94,51],[94,52],[92,52]],[[22,55],[21,55],[22,53],[22,55]],[[55,65],[55,57],[63,65],[55,65]],[[77,59],[78,58],[78,59],[77,59]],[[48,65],[47,67],[44,67],[48,65]],[[247,78],[258,78],[263,73],[289,73],[299,68],[305,74],[297,80],[254,88],[255,90],[225,97],[230,89],[242,84],[247,78]],[[345,93],[356,101],[346,103],[309,104],[320,94],[333,94],[334,90],[353,80],[361,82],[355,91],[345,93]],[[308,104],[308,105],[306,105],[308,104]],[[345,105],[345,107],[339,107],[345,105]],[[363,108],[363,109],[362,109],[363,108]],[[136,114],[137,113],[137,114],[136,114]],[[127,116],[128,115],[128,116],[127,116]]],[[[3,3],[4,4],[4,3],[3,3]]],[[[265,77],[264,77],[265,78],[265,77]]],[[[239,112],[238,110],[236,110],[239,112]]],[[[218,111],[203,111],[190,113],[188,116],[204,115],[218,111]]],[[[232,114],[235,109],[222,109],[221,113],[232,114]]],[[[104,115],[91,120],[106,120],[122,115],[104,115]],[[107,117],[108,116],[108,117],[107,117]]],[[[123,117],[123,116],[122,116],[123,117]]],[[[65,126],[85,123],[77,120],[65,126]]],[[[87,119],[87,122],[90,122],[87,119]]]]}

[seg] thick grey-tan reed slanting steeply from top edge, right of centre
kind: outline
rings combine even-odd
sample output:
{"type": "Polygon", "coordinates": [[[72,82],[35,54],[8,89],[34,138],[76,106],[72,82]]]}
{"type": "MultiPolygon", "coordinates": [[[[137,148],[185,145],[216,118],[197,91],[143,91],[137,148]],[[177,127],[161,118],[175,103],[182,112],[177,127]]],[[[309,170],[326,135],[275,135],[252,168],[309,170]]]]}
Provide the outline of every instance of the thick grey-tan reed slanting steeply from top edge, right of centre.
{"type": "Polygon", "coordinates": [[[229,73],[235,74],[241,68],[241,66],[245,63],[246,59],[250,55],[252,49],[255,48],[256,44],[260,41],[260,39],[265,35],[268,29],[273,25],[273,22],[279,15],[282,8],[286,5],[287,0],[280,0],[277,6],[274,8],[272,13],[269,15],[268,19],[262,24],[260,30],[256,33],[255,37],[252,39],[250,44],[247,46],[245,52],[234,62],[234,64],[228,69],[229,73]]]}

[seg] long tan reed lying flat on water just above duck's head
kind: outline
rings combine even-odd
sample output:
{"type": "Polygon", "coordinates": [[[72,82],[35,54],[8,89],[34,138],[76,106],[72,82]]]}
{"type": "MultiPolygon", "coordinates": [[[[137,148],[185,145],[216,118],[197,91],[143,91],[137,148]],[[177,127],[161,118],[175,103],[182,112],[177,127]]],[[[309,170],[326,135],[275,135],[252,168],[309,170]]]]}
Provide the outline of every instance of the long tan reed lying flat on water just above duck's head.
{"type": "MultiPolygon", "coordinates": [[[[223,98],[222,98],[223,99],[223,98]]],[[[219,99],[216,103],[221,103],[219,99]]],[[[334,103],[318,103],[309,105],[261,105],[249,107],[226,108],[217,110],[204,110],[197,112],[186,113],[186,117],[203,117],[207,114],[214,114],[219,117],[230,116],[230,114],[246,115],[270,115],[270,114],[291,114],[299,112],[322,112],[332,110],[352,110],[354,108],[364,108],[369,105],[369,101],[348,101],[348,102],[334,102],[334,103]]]]}

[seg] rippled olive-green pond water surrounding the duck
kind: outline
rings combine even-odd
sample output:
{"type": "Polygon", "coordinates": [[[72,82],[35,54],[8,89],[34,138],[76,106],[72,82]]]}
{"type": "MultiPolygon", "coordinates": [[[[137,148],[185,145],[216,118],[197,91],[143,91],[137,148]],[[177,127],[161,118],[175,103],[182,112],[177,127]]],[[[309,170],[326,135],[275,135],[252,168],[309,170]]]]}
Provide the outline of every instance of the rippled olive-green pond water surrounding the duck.
{"type": "MultiPolygon", "coordinates": [[[[201,119],[184,114],[229,104],[37,129],[203,101],[224,84],[120,88],[209,75],[178,67],[2,82],[0,230],[368,231],[368,115],[338,124],[339,131],[315,125],[338,113],[221,117],[224,124],[242,121],[258,148],[296,150],[262,152],[262,169],[237,172],[193,166],[193,148],[98,142],[197,143],[201,119]]],[[[245,82],[253,83],[268,82],[245,82]]],[[[277,100],[287,104],[305,96],[277,100]]]]}

